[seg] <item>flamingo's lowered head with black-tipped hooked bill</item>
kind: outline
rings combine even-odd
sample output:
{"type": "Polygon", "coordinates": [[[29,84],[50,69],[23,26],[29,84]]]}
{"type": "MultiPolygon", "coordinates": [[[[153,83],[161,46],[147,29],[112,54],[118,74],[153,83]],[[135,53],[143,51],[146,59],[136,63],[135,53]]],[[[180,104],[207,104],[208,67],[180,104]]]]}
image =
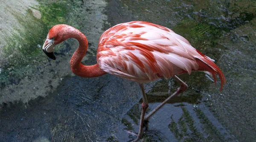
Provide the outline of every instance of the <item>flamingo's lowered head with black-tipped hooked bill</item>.
{"type": "Polygon", "coordinates": [[[70,27],[71,26],[60,24],[53,26],[49,30],[47,39],[43,45],[43,51],[52,60],[56,59],[55,55],[53,54],[54,46],[61,43],[62,41],[65,41],[67,38],[70,38],[67,34],[67,32],[70,30],[70,27]]]}

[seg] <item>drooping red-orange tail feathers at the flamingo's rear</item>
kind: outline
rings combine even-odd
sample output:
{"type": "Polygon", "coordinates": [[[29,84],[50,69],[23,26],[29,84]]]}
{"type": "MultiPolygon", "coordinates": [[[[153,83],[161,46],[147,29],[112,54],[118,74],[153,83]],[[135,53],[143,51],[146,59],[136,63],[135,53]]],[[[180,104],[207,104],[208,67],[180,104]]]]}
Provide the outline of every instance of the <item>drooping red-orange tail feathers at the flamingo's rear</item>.
{"type": "Polygon", "coordinates": [[[215,75],[218,74],[218,76],[221,80],[221,89],[220,89],[220,92],[221,92],[224,82],[226,83],[226,79],[225,79],[223,73],[217,67],[217,65],[213,63],[211,58],[203,55],[199,51],[197,51],[197,52],[202,56],[200,58],[196,58],[196,62],[199,66],[198,71],[207,71],[207,72],[209,72],[212,75],[215,84],[216,84],[216,76],[215,75]]]}

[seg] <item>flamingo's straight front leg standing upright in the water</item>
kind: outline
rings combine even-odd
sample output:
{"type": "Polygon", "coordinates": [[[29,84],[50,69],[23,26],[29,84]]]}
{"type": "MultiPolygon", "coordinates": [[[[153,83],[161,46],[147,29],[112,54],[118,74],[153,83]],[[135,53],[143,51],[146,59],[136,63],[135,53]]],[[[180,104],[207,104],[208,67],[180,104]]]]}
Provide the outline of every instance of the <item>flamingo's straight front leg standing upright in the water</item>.
{"type": "Polygon", "coordinates": [[[137,135],[137,139],[135,139],[132,142],[137,142],[138,140],[140,140],[142,138],[142,134],[143,134],[143,120],[144,120],[144,116],[146,113],[146,110],[148,108],[148,100],[147,100],[147,96],[144,90],[144,85],[143,83],[139,83],[140,85],[140,90],[142,93],[142,98],[143,98],[143,103],[141,104],[141,115],[140,115],[140,129],[139,129],[139,133],[137,135]]]}

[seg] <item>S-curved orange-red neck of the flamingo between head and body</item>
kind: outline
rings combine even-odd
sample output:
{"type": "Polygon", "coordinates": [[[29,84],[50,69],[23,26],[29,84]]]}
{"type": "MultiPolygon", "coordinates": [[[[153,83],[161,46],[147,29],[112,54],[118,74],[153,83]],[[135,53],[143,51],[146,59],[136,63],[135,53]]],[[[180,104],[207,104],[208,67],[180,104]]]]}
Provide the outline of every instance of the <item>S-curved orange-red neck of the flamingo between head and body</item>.
{"type": "Polygon", "coordinates": [[[75,28],[71,29],[68,34],[70,35],[68,38],[76,38],[79,41],[79,47],[76,49],[76,52],[74,52],[70,60],[72,72],[85,78],[98,77],[106,74],[106,72],[99,68],[98,64],[92,66],[85,66],[81,64],[88,47],[88,42],[84,34],[75,28]]]}

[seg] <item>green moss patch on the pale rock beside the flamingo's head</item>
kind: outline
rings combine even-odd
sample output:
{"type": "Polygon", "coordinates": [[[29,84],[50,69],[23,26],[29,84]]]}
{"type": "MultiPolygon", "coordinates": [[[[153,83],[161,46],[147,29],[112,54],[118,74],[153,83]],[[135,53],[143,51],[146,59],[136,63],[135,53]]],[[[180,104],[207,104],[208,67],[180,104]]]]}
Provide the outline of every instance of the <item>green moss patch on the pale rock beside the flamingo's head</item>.
{"type": "Polygon", "coordinates": [[[14,13],[24,31],[13,33],[12,38],[6,38],[8,44],[3,47],[3,60],[0,61],[1,88],[7,84],[17,84],[20,78],[36,71],[35,65],[47,63],[41,45],[52,26],[67,22],[70,7],[66,1],[57,1],[40,3],[33,9],[41,12],[41,19],[36,19],[30,9],[27,10],[26,16],[14,13]]]}

